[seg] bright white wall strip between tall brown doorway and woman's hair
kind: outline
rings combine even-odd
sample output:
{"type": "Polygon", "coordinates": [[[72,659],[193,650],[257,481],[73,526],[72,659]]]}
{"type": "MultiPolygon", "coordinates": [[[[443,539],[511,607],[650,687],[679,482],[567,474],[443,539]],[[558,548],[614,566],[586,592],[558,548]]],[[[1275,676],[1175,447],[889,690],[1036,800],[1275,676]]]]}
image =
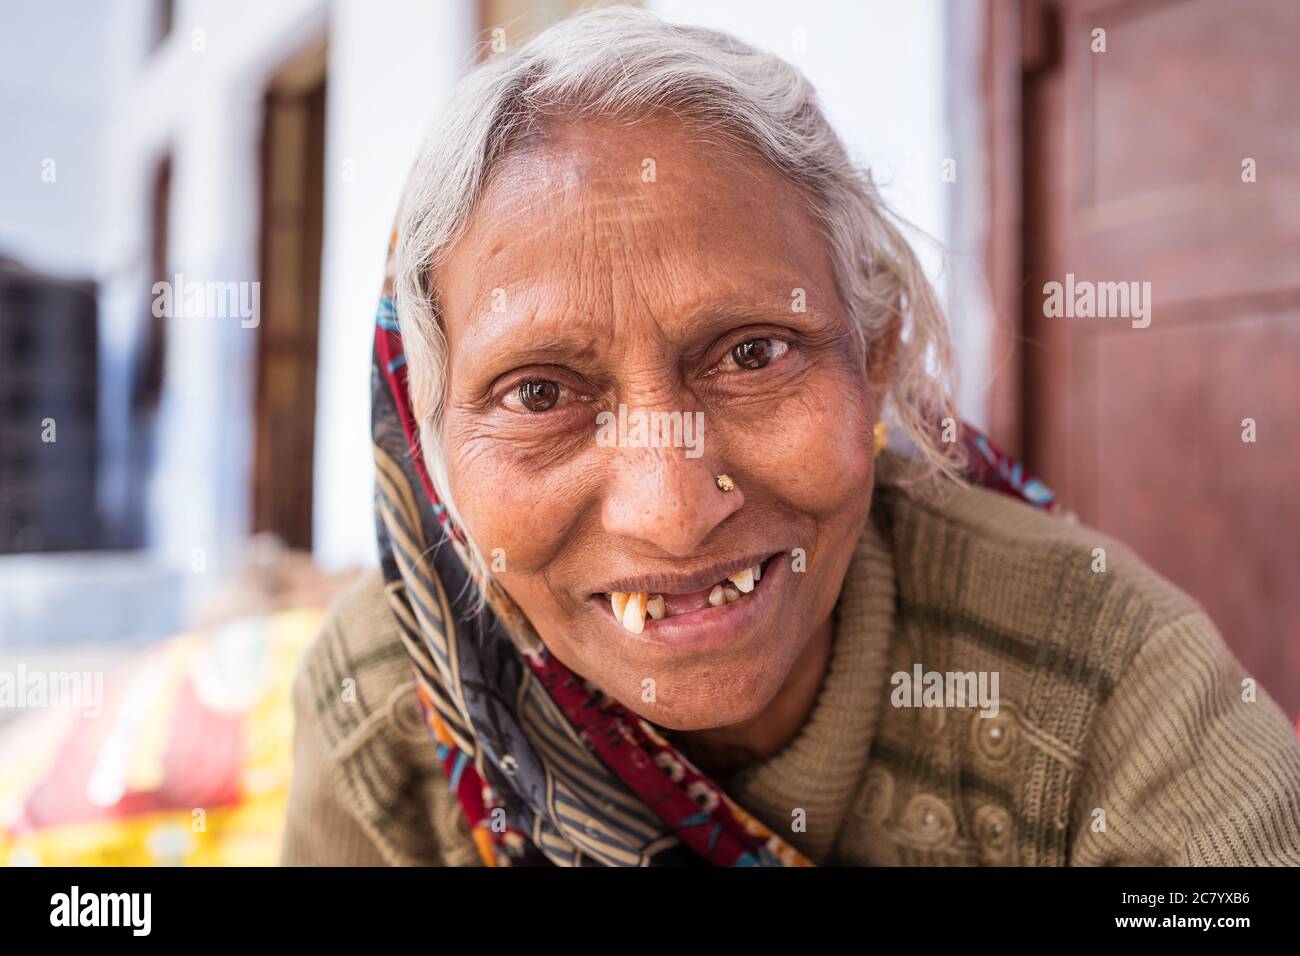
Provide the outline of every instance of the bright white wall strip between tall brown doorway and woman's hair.
{"type": "Polygon", "coordinates": [[[335,4],[325,150],[325,250],[316,395],[315,553],[374,557],[370,346],[398,199],[432,114],[472,64],[474,5],[335,4]]]}

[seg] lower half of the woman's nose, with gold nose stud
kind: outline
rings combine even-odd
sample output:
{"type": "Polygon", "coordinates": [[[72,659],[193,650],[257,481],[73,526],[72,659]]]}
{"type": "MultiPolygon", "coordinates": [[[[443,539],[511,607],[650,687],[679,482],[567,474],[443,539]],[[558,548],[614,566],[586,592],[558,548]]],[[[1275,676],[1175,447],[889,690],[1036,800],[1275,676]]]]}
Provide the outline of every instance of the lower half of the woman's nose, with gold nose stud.
{"type": "Polygon", "coordinates": [[[698,555],[714,528],[738,511],[745,494],[723,492],[708,457],[684,449],[607,449],[614,457],[601,511],[604,529],[671,557],[698,555]]]}

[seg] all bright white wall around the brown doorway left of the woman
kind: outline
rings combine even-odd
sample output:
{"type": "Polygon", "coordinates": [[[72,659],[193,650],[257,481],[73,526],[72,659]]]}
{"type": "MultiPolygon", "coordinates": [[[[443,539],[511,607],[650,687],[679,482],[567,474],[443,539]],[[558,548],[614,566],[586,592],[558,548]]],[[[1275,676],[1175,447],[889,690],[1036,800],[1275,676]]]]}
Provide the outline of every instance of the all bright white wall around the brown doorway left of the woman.
{"type": "MultiPolygon", "coordinates": [[[[468,64],[473,7],[191,0],[151,55],[146,8],[118,8],[130,33],[118,48],[138,52],[113,96],[103,176],[105,349],[117,354],[138,332],[150,179],[168,148],[172,268],[257,278],[261,96],[285,59],[329,29],[315,536],[329,567],[373,562],[369,351],[384,248],[426,117],[468,64]]],[[[248,532],[256,334],[238,320],[168,325],[150,541],[173,563],[202,551],[211,579],[248,532]]]]}

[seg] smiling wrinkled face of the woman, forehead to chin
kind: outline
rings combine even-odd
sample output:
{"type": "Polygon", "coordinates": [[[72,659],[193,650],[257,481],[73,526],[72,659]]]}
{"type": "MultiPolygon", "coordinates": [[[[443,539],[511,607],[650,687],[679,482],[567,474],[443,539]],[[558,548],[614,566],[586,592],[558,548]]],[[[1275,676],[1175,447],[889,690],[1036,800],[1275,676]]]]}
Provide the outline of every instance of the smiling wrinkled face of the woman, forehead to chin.
{"type": "Polygon", "coordinates": [[[758,714],[827,622],[879,410],[800,195],[707,139],[552,129],[436,274],[462,520],[564,665],[673,730],[758,714]]]}

